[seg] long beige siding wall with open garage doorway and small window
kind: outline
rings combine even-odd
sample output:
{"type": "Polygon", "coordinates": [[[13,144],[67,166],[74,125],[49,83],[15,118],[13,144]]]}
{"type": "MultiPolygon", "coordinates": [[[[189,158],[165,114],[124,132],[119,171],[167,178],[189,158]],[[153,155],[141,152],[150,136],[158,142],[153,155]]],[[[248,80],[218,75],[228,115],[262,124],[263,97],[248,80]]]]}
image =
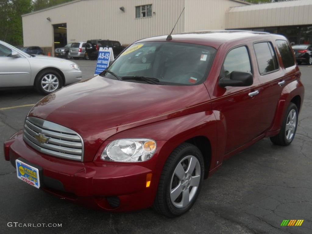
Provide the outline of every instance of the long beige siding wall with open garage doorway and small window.
{"type": "MultiPolygon", "coordinates": [[[[122,44],[171,32],[185,0],[84,0],[28,14],[23,19],[24,45],[51,46],[53,24],[67,23],[67,41],[118,40],[122,44]],[[135,6],[152,4],[152,17],[135,18],[135,6]],[[124,7],[125,12],[119,10],[124,7]],[[46,18],[50,17],[51,22],[46,18]],[[34,25],[35,24],[35,25],[34,25]]],[[[185,14],[173,33],[184,32],[185,14]]]]}

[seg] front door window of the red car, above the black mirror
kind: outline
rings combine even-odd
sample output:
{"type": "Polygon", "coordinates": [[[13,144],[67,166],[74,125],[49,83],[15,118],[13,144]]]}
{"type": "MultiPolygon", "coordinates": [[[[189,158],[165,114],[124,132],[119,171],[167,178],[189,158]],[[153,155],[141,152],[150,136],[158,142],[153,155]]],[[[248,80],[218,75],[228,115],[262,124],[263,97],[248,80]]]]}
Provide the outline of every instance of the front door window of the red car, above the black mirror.
{"type": "MultiPolygon", "coordinates": [[[[224,76],[230,78],[232,71],[245,71],[251,73],[250,56],[246,46],[232,49],[223,63],[224,76]]],[[[223,72],[223,71],[222,71],[223,72]]]]}

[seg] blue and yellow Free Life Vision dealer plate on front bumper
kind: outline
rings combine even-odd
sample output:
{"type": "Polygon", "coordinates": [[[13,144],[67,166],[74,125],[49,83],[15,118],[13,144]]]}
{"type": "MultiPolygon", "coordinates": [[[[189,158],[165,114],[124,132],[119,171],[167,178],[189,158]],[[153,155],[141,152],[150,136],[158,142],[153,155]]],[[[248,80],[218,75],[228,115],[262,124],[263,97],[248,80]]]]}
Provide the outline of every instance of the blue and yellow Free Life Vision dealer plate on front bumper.
{"type": "Polygon", "coordinates": [[[21,179],[27,184],[39,188],[40,187],[39,170],[18,159],[15,160],[15,163],[16,163],[17,178],[21,179]]]}

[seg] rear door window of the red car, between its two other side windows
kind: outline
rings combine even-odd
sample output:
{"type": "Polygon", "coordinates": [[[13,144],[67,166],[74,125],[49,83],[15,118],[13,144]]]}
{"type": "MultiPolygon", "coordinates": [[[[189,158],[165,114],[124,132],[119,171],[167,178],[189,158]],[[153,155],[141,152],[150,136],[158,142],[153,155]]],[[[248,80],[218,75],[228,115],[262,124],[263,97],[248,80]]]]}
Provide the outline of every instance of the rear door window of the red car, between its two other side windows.
{"type": "Polygon", "coordinates": [[[278,63],[271,42],[255,43],[254,49],[261,75],[278,70],[278,63]]]}

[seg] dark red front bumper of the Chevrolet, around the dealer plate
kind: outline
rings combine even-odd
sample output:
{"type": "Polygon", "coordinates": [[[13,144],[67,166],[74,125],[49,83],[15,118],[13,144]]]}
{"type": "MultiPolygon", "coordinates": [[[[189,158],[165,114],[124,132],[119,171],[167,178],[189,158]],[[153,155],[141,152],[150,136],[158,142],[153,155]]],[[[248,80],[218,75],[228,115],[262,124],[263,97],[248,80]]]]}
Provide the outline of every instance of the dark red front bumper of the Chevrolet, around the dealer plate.
{"type": "MultiPolygon", "coordinates": [[[[139,165],[77,162],[42,155],[22,139],[22,131],[4,142],[5,159],[40,169],[41,189],[72,202],[107,211],[130,211],[150,207],[155,186],[146,187],[152,171],[139,165]]],[[[18,183],[18,182],[17,182],[18,183]]],[[[23,183],[23,182],[22,182],[23,183]]],[[[156,188],[157,189],[157,188],[156,188]]]]}

